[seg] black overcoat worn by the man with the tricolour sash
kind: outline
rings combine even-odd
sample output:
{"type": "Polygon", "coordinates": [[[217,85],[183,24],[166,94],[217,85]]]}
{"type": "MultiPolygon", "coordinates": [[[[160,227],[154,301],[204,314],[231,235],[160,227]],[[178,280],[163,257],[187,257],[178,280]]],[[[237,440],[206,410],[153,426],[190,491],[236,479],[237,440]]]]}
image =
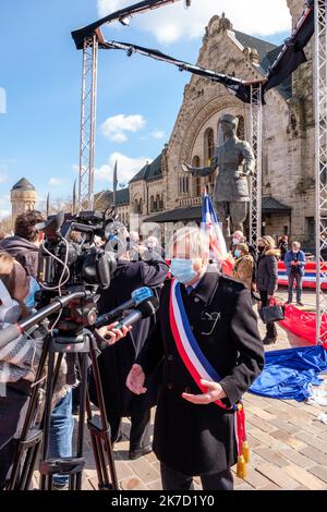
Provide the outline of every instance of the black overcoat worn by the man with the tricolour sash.
{"type": "MultiPolygon", "coordinates": [[[[186,475],[220,473],[237,462],[233,413],[216,404],[195,405],[183,392],[199,394],[175,348],[169,322],[170,282],[161,292],[158,321],[137,363],[149,375],[164,357],[155,422],[154,451],[186,475]]],[[[237,281],[208,272],[187,295],[185,310],[195,338],[222,377],[229,401],[239,401],[264,367],[264,349],[251,295],[237,281]]]]}

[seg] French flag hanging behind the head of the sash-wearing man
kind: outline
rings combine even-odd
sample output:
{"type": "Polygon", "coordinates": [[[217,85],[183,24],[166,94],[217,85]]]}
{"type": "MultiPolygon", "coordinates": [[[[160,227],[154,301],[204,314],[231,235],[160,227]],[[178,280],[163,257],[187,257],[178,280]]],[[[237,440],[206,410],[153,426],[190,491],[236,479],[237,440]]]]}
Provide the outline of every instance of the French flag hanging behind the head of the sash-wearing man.
{"type": "Polygon", "coordinates": [[[210,249],[221,264],[223,273],[230,276],[233,269],[233,261],[227,251],[218,216],[207,193],[204,195],[202,205],[202,229],[209,237],[210,249]]]}

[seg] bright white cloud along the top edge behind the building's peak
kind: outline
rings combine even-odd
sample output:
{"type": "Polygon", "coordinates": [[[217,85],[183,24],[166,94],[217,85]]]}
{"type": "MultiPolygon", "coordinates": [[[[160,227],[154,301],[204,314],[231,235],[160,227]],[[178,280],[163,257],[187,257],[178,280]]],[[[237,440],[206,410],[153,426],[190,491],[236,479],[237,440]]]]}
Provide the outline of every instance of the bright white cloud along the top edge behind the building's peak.
{"type": "MultiPolygon", "coordinates": [[[[98,0],[98,12],[105,16],[130,3],[131,0],[98,0]]],[[[131,24],[150,32],[159,42],[171,44],[203,36],[210,17],[222,12],[235,29],[247,34],[267,36],[291,29],[286,0],[192,0],[187,10],[180,1],[140,14],[131,24]]]]}

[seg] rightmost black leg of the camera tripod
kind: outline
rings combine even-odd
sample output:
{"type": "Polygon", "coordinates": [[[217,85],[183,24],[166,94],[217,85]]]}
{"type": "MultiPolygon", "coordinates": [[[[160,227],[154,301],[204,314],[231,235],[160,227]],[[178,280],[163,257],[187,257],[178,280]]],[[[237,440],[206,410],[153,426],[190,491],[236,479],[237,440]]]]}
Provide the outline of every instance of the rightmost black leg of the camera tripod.
{"type": "MultiPolygon", "coordinates": [[[[95,346],[95,339],[94,337],[90,337],[90,359],[93,364],[93,375],[94,375],[94,382],[95,382],[95,388],[96,388],[96,394],[97,394],[97,401],[98,401],[98,406],[100,411],[100,419],[101,419],[101,428],[102,431],[105,431],[104,436],[104,441],[105,441],[105,447],[108,455],[108,462],[109,462],[109,471],[110,471],[110,477],[111,477],[111,485],[113,490],[119,489],[118,485],[118,478],[117,478],[117,472],[116,472],[116,466],[114,466],[114,460],[113,460],[113,453],[112,453],[112,446],[111,446],[111,440],[109,437],[109,424],[107,419],[107,414],[106,414],[106,406],[105,406],[105,400],[104,400],[104,392],[102,392],[102,386],[101,386],[101,379],[100,379],[100,371],[99,371],[99,366],[98,366],[98,359],[96,355],[96,346],[95,346]]],[[[99,452],[99,455],[101,455],[101,451],[99,452]]],[[[95,454],[96,458],[96,454],[95,454]]],[[[104,463],[104,458],[100,456],[100,462],[104,463]],[[102,460],[101,460],[102,459],[102,460]]],[[[105,463],[105,466],[102,467],[102,474],[107,474],[107,465],[105,463]]]]}

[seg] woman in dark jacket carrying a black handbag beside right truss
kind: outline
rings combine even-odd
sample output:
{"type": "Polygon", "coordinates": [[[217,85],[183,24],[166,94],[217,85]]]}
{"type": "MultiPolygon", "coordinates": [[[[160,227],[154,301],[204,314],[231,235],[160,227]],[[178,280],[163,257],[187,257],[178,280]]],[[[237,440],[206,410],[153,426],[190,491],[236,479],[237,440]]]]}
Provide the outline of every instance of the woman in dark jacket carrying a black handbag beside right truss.
{"type": "MultiPolygon", "coordinates": [[[[258,240],[258,259],[256,272],[256,288],[261,293],[262,306],[268,306],[278,288],[278,257],[280,252],[276,249],[271,236],[258,240]]],[[[277,341],[275,324],[267,324],[267,333],[263,340],[265,345],[271,345],[277,341]]]]}

